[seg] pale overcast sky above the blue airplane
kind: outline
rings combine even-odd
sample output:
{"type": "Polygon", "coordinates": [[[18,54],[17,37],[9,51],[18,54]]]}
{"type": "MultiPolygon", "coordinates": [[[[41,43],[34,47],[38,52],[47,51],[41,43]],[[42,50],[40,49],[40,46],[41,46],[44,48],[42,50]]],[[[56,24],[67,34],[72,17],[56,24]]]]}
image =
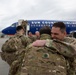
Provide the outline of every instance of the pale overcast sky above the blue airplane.
{"type": "Polygon", "coordinates": [[[76,0],[0,0],[0,31],[19,19],[76,21],[76,0]]]}

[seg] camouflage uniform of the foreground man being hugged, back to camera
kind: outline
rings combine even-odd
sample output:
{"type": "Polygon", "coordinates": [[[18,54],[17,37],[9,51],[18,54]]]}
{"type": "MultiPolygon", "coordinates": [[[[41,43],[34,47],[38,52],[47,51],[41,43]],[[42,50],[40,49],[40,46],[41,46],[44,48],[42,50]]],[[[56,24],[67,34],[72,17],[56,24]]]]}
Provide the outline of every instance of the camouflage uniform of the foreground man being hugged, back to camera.
{"type": "MultiPolygon", "coordinates": [[[[50,35],[42,34],[40,39],[51,39],[51,37],[50,35]]],[[[24,58],[21,60],[19,58],[13,62],[9,75],[68,75],[67,71],[70,67],[62,51],[64,46],[66,51],[69,47],[67,48],[65,44],[56,42],[53,43],[52,41],[50,48],[46,46],[27,46],[24,58]],[[62,48],[56,48],[55,43],[61,44],[62,48]],[[21,64],[17,65],[18,62],[21,64]]],[[[72,56],[66,57],[71,58],[72,56]]]]}

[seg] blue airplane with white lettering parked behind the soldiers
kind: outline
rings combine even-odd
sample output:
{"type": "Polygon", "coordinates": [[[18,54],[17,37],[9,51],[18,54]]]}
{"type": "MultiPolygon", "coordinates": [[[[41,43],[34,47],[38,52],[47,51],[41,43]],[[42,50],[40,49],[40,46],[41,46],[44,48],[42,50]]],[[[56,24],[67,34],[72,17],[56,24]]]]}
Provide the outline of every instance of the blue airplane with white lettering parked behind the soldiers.
{"type": "MultiPolygon", "coordinates": [[[[39,31],[39,29],[43,26],[50,26],[55,22],[63,22],[66,25],[66,32],[70,34],[72,31],[76,31],[76,21],[59,21],[59,20],[27,20],[28,22],[28,31],[35,34],[35,31],[39,31]]],[[[6,35],[14,35],[16,33],[16,27],[18,26],[18,22],[13,23],[11,26],[2,30],[2,33],[6,35]]]]}

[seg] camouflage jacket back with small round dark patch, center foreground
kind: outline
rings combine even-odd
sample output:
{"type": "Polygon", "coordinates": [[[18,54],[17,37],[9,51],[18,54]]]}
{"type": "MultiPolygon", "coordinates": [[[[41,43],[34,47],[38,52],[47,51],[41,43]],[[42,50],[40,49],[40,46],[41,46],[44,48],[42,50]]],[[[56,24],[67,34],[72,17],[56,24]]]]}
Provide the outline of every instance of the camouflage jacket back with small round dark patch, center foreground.
{"type": "Polygon", "coordinates": [[[67,75],[65,58],[46,47],[27,48],[20,68],[16,75],[67,75]]]}

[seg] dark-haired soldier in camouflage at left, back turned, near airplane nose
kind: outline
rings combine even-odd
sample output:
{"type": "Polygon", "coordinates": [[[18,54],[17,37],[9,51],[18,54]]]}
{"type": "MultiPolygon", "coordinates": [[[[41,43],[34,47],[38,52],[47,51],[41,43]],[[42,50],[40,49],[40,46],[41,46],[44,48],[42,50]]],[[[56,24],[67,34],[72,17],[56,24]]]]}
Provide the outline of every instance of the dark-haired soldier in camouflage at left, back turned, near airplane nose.
{"type": "Polygon", "coordinates": [[[9,38],[2,46],[2,59],[11,65],[29,43],[31,43],[31,40],[24,35],[23,27],[18,26],[17,33],[9,38]]]}

